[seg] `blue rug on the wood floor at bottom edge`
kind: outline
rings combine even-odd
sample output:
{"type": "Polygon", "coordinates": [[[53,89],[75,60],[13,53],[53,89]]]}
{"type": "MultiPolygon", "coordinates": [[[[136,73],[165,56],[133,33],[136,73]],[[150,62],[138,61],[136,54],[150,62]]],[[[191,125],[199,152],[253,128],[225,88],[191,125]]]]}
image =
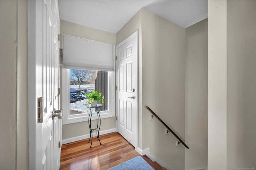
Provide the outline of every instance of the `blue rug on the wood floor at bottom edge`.
{"type": "Polygon", "coordinates": [[[137,156],[108,170],[154,170],[141,156],[137,156]]]}

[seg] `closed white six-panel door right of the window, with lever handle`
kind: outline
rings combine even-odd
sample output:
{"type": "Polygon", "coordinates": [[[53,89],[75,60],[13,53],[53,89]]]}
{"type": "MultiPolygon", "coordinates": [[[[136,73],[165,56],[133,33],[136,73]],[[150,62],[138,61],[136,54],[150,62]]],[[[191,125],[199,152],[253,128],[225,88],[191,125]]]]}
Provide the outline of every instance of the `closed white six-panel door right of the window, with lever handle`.
{"type": "Polygon", "coordinates": [[[117,129],[136,148],[138,143],[138,31],[116,47],[117,129]]]}

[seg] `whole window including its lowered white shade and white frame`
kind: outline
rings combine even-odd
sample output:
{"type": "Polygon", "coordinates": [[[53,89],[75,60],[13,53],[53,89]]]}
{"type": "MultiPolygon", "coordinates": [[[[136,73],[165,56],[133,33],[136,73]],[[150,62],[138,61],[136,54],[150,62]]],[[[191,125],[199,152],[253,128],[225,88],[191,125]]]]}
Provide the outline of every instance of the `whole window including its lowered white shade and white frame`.
{"type": "MultiPolygon", "coordinates": [[[[90,92],[93,89],[104,90],[104,97],[107,101],[100,111],[100,117],[114,117],[115,45],[63,34],[62,47],[63,124],[88,121],[87,108],[83,105],[86,99],[78,93],[90,92]],[[75,69],[87,72],[84,79],[78,80],[74,76],[75,69]],[[98,75],[102,74],[104,74],[103,77],[107,77],[104,82],[103,78],[98,78],[98,75]],[[99,83],[101,86],[98,86],[99,83]]],[[[94,119],[97,119],[95,113],[92,115],[92,120],[94,119]]]]}

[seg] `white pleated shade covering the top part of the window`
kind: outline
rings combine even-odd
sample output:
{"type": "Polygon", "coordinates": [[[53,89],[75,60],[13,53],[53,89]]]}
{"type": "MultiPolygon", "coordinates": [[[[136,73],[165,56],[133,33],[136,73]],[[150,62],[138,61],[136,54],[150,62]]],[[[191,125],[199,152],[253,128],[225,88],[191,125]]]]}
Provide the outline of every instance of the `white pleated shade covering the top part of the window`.
{"type": "Polygon", "coordinates": [[[63,34],[63,68],[114,71],[115,45],[63,34]]]}

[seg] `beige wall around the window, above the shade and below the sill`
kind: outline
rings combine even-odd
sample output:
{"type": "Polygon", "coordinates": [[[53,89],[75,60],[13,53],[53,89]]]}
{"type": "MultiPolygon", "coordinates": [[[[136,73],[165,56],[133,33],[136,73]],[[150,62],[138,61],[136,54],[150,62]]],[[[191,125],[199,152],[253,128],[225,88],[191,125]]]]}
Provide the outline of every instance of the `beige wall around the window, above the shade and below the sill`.
{"type": "MultiPolygon", "coordinates": [[[[116,34],[104,32],[101,30],[96,30],[94,28],[89,28],[86,26],[81,26],[71,22],[66,22],[64,20],[60,20],[60,34],[61,34],[60,48],[62,48],[62,34],[76,36],[80,38],[86,38],[86,39],[95,40],[99,42],[110,43],[114,45],[116,44],[116,34]]],[[[61,71],[62,69],[60,69],[60,72],[61,71]]],[[[62,87],[62,74],[60,75],[60,79],[61,79],[60,87],[62,87]]],[[[61,103],[61,107],[62,107],[62,103],[61,103]]],[[[96,122],[97,122],[96,120],[92,121],[92,125],[96,124],[96,122]]],[[[111,118],[102,119],[100,130],[101,131],[108,130],[115,127],[116,127],[115,117],[111,117],[111,118]]],[[[90,132],[89,132],[87,121],[80,122],[80,123],[72,123],[68,125],[63,125],[62,139],[68,139],[68,138],[77,137],[77,136],[81,136],[89,133],[90,132]]]]}

